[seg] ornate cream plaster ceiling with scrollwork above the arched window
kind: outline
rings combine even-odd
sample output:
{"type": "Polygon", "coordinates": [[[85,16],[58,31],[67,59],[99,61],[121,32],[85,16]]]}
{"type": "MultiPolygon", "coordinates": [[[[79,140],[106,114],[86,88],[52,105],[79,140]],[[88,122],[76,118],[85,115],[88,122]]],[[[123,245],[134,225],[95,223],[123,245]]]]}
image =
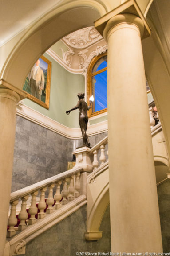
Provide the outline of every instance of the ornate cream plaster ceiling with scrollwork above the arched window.
{"type": "Polygon", "coordinates": [[[61,43],[57,42],[54,47],[47,50],[47,54],[72,73],[85,75],[92,58],[107,50],[106,41],[94,26],[79,29],[63,37],[61,42],[62,47],[61,43]]]}

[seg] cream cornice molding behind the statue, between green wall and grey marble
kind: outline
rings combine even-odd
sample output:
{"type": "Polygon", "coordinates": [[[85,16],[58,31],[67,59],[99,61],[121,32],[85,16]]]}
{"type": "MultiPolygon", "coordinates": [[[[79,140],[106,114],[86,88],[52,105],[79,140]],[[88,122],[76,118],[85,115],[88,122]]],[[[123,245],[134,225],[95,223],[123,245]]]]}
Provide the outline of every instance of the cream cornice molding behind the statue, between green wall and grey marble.
{"type": "MultiPolygon", "coordinates": [[[[52,132],[58,133],[66,138],[82,139],[82,132],[80,128],[69,128],[47,116],[44,116],[31,107],[27,107],[22,103],[17,104],[16,114],[17,116],[21,116],[35,124],[39,124],[40,126],[47,128],[52,132]]],[[[88,136],[97,135],[103,132],[107,132],[107,120],[98,124],[92,124],[87,128],[88,136]]]]}

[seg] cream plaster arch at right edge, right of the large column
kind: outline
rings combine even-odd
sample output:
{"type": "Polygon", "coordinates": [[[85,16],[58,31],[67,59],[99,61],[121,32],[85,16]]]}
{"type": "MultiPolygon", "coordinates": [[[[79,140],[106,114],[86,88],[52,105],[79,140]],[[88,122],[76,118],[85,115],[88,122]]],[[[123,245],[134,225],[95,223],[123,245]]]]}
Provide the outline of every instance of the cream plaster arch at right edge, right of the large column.
{"type": "Polygon", "coordinates": [[[146,20],[151,28],[151,36],[142,40],[146,79],[150,86],[164,132],[168,155],[170,156],[170,58],[166,40],[167,25],[170,23],[168,9],[170,3],[160,0],[148,3],[146,20]],[[160,25],[161,24],[161,25],[160,25]]]}

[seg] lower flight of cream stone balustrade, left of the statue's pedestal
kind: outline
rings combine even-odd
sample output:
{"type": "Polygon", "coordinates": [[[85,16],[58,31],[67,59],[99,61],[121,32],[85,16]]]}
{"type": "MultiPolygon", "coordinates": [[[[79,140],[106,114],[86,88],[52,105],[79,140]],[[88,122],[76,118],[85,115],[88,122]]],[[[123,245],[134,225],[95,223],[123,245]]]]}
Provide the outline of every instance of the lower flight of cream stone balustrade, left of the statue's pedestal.
{"type": "Polygon", "coordinates": [[[7,237],[12,237],[16,231],[24,230],[28,225],[36,223],[38,219],[43,219],[46,214],[51,214],[53,211],[59,209],[62,205],[66,205],[69,201],[80,195],[80,181],[79,177],[82,168],[73,168],[64,173],[60,173],[51,178],[37,182],[31,186],[17,190],[11,194],[11,213],[8,218],[8,231],[7,237]],[[55,191],[54,191],[55,190],[55,191]],[[47,192],[46,192],[47,191],[47,192]],[[45,196],[47,193],[47,200],[45,196]],[[53,193],[54,197],[53,197],[53,193]],[[40,194],[40,200],[37,202],[37,196],[40,194]],[[27,212],[27,200],[31,195],[31,206],[27,212]],[[16,218],[16,206],[21,200],[21,209],[18,215],[20,224],[17,225],[18,219],[16,218]],[[38,208],[37,208],[38,204],[38,208]],[[47,208],[47,211],[44,211],[47,208]],[[39,209],[39,213],[38,213],[39,209]],[[28,219],[28,213],[30,218],[28,219]]]}

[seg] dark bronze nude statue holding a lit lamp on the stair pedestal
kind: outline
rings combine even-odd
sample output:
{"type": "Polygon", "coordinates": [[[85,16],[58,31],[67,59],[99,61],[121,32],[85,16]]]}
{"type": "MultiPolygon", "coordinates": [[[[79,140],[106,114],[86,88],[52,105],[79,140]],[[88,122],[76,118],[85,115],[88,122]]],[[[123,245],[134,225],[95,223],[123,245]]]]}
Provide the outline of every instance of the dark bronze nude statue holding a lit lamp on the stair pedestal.
{"type": "Polygon", "coordinates": [[[90,102],[90,105],[88,106],[87,103],[83,100],[84,93],[82,93],[82,92],[78,93],[77,96],[79,98],[77,105],[75,107],[71,108],[71,110],[67,110],[66,114],[69,115],[72,110],[79,108],[79,125],[80,125],[81,131],[82,131],[83,145],[90,147],[90,142],[88,140],[86,130],[87,130],[87,123],[88,123],[87,110],[90,109],[91,102],[90,102]]]}

